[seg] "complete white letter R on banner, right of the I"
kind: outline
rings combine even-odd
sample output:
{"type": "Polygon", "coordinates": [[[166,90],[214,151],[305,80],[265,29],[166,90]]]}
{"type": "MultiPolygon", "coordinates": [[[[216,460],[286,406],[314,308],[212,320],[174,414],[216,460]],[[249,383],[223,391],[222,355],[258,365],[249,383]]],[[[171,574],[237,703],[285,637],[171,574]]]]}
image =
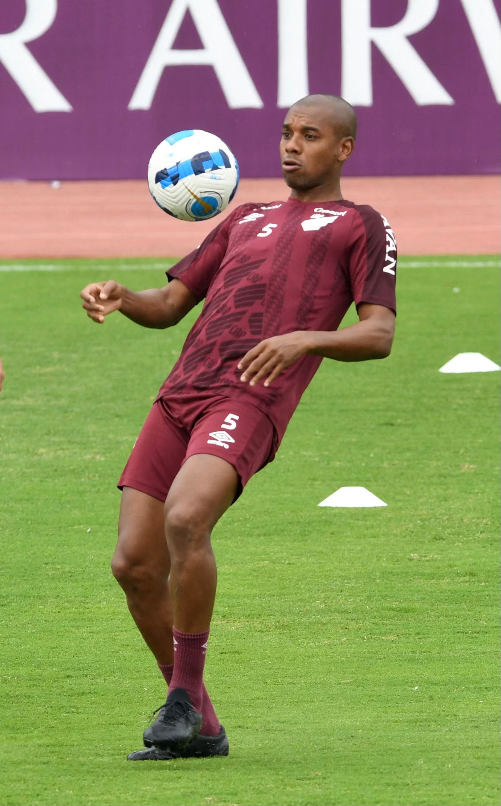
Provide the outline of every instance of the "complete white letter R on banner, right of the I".
{"type": "Polygon", "coordinates": [[[408,0],[400,23],[371,27],[371,0],[342,0],[342,90],[354,106],[372,106],[371,42],[374,42],[419,106],[449,105],[454,99],[407,37],[437,14],[439,0],[408,0]]]}

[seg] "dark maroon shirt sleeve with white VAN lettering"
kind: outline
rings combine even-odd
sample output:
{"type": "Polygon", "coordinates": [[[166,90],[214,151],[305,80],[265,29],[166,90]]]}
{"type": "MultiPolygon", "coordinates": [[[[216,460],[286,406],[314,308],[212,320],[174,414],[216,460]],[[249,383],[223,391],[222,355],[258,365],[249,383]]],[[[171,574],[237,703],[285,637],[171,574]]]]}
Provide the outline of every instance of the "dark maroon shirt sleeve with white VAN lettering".
{"type": "Polygon", "coordinates": [[[396,314],[396,242],[387,219],[370,206],[356,207],[348,252],[355,305],[384,305],[396,314]]]}

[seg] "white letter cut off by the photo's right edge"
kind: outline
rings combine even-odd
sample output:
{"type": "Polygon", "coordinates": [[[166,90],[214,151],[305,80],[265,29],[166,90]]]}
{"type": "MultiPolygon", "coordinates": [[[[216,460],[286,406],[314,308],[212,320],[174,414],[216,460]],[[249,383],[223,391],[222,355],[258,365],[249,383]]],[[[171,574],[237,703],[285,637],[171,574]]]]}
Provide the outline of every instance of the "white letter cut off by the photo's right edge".
{"type": "Polygon", "coordinates": [[[501,23],[492,0],[461,0],[495,99],[501,103],[501,23]]]}

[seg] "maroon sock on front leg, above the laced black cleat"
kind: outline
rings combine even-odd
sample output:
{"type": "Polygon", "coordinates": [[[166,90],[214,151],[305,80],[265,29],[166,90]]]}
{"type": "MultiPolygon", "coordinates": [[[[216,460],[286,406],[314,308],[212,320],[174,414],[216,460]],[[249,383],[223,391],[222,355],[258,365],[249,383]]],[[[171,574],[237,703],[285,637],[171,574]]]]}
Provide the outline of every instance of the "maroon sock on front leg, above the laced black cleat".
{"type": "Polygon", "coordinates": [[[174,671],[169,683],[169,693],[175,688],[184,688],[198,713],[202,709],[204,665],[209,630],[205,633],[181,633],[172,629],[174,638],[174,671]]]}

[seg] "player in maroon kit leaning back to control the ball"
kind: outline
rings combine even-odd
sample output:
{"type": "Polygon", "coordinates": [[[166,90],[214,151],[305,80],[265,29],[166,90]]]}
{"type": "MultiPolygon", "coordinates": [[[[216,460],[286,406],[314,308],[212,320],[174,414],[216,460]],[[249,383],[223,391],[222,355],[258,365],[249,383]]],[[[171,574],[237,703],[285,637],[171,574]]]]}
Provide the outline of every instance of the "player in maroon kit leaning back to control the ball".
{"type": "Polygon", "coordinates": [[[386,218],[342,197],[356,136],[342,98],[309,95],[280,140],[286,202],[245,204],[135,293],[113,280],[82,292],[102,323],[115,310],[145,327],[176,325],[205,299],[160,388],[118,487],[112,569],[168,683],[131,760],[227,754],[203,671],[216,594],[213,526],[274,458],[322,358],[389,355],[395,238],[386,218]],[[354,302],[359,322],[337,330],[354,302]]]}

